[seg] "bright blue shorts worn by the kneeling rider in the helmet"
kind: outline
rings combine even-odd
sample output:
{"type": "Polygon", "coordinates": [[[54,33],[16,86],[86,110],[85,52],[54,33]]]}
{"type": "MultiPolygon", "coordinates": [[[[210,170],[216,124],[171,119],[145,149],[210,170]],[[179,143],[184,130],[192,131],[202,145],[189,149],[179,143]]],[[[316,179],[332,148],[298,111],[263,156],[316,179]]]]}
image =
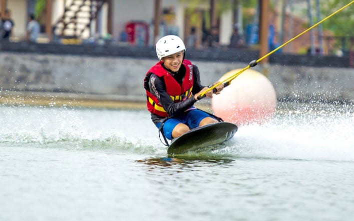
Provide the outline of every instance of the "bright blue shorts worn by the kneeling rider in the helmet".
{"type": "MultiPolygon", "coordinates": [[[[171,117],[171,118],[167,119],[163,125],[163,132],[164,132],[166,138],[171,140],[172,139],[172,130],[173,130],[173,128],[175,128],[175,126],[178,123],[187,124],[190,129],[193,129],[195,127],[198,127],[200,121],[208,116],[215,118],[212,115],[210,115],[209,113],[204,112],[199,109],[189,110],[179,116],[171,117]]],[[[161,122],[156,123],[157,128],[160,128],[160,125],[161,125],[161,122]]]]}

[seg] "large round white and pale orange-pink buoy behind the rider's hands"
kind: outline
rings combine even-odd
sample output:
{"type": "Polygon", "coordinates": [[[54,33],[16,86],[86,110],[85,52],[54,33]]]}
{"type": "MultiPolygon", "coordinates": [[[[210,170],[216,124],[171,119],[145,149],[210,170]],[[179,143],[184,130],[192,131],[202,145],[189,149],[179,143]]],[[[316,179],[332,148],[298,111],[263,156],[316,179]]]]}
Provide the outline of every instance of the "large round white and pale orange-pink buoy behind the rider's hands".
{"type": "MultiPolygon", "coordinates": [[[[219,81],[240,70],[225,73],[219,81]]],[[[276,94],[267,77],[256,70],[246,69],[220,94],[213,95],[211,107],[215,115],[236,125],[263,123],[274,114],[276,94]]]]}

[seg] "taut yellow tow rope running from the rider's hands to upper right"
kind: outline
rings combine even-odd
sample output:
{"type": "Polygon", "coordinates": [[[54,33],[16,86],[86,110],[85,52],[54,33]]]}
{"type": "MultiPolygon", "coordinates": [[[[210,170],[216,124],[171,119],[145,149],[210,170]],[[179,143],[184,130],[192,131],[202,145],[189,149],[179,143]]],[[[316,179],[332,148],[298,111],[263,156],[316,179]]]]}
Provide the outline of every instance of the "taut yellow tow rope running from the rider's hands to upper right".
{"type": "Polygon", "coordinates": [[[298,38],[299,36],[301,36],[302,34],[306,33],[307,31],[311,30],[313,27],[317,26],[318,24],[322,23],[323,21],[327,20],[328,18],[330,18],[331,16],[333,16],[334,14],[338,13],[339,11],[343,10],[344,8],[346,8],[347,6],[349,6],[350,4],[352,4],[354,2],[354,0],[352,0],[350,3],[347,3],[346,5],[344,5],[343,7],[339,8],[338,10],[334,11],[333,13],[331,13],[330,15],[328,15],[327,17],[323,18],[322,20],[318,21],[317,23],[313,24],[312,26],[310,26],[309,28],[307,28],[306,30],[302,31],[301,33],[297,34],[295,37],[291,38],[290,40],[286,41],[285,43],[281,44],[280,46],[278,46],[277,48],[275,48],[274,50],[268,52],[267,54],[265,54],[264,56],[258,58],[257,60],[252,60],[246,67],[242,68],[240,71],[238,71],[237,73],[229,76],[228,78],[226,78],[225,80],[223,80],[222,82],[218,82],[216,84],[214,84],[213,86],[209,87],[208,89],[206,89],[205,91],[203,91],[198,98],[203,98],[205,96],[205,93],[214,89],[216,86],[220,85],[220,84],[224,84],[225,86],[229,85],[231,83],[231,81],[233,79],[235,79],[238,75],[240,75],[243,71],[247,70],[250,67],[254,67],[255,65],[257,65],[257,63],[261,60],[263,60],[264,58],[268,57],[270,54],[274,53],[275,51],[277,51],[278,49],[282,48],[283,46],[285,46],[286,44],[290,43],[291,41],[293,41],[294,39],[298,38]]]}

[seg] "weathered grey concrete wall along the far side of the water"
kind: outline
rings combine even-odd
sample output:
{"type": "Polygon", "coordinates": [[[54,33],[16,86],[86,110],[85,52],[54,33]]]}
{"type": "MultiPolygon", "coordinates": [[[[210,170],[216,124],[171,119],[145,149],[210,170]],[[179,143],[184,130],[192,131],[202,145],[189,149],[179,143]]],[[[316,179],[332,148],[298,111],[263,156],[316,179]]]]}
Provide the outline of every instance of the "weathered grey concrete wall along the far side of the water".
{"type": "MultiPolygon", "coordinates": [[[[143,78],[157,59],[0,53],[1,90],[64,91],[134,96],[144,99],[143,78]]],[[[192,60],[203,84],[243,68],[242,62],[192,60]]],[[[262,66],[253,67],[262,71],[262,66]]],[[[354,69],[269,65],[268,77],[278,99],[354,102],[354,69]]],[[[1,94],[1,93],[0,93],[1,94]]]]}

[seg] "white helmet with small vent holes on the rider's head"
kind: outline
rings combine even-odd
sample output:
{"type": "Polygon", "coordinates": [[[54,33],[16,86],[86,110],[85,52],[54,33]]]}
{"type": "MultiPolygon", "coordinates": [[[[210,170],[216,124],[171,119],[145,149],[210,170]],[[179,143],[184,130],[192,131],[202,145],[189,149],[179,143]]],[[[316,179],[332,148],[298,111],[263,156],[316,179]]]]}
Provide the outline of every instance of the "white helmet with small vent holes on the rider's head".
{"type": "Polygon", "coordinates": [[[186,50],[183,40],[176,35],[166,35],[161,37],[156,43],[156,54],[159,60],[162,57],[186,50]]]}

